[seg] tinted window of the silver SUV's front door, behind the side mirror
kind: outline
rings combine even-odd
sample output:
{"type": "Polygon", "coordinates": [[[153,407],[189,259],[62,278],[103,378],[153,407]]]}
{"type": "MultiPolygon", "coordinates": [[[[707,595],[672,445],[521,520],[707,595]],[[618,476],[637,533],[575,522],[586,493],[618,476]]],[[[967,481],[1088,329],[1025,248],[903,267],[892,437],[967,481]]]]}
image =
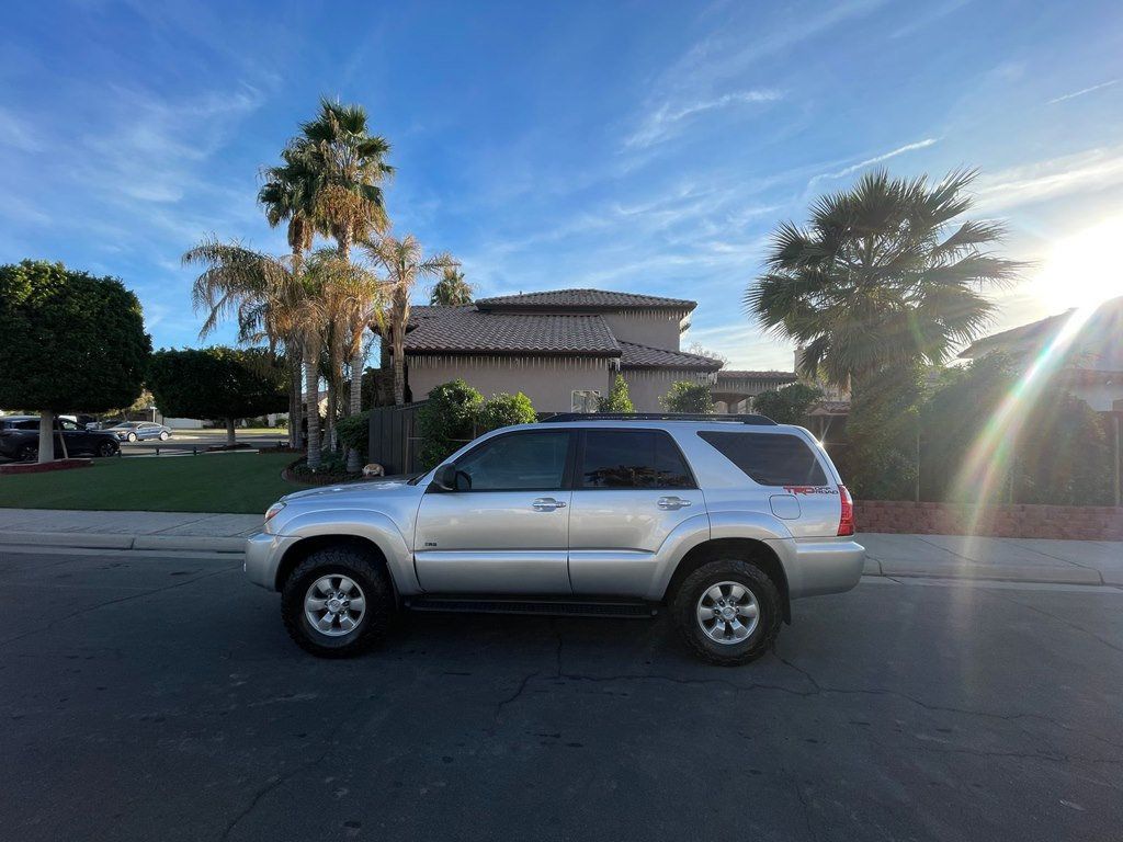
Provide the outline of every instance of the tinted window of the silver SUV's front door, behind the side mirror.
{"type": "Polygon", "coordinates": [[[459,491],[560,488],[569,433],[519,432],[485,441],[456,463],[459,491]]]}

